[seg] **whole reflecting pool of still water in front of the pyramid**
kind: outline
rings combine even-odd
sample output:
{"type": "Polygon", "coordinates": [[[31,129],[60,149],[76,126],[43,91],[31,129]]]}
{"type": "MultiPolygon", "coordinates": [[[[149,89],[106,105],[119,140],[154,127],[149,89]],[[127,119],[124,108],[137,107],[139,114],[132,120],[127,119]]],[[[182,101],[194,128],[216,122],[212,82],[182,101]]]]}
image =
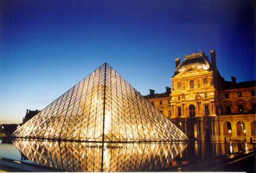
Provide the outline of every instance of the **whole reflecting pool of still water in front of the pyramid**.
{"type": "Polygon", "coordinates": [[[251,144],[200,142],[93,143],[1,140],[0,156],[55,169],[83,172],[168,170],[176,165],[253,149],[251,144]]]}

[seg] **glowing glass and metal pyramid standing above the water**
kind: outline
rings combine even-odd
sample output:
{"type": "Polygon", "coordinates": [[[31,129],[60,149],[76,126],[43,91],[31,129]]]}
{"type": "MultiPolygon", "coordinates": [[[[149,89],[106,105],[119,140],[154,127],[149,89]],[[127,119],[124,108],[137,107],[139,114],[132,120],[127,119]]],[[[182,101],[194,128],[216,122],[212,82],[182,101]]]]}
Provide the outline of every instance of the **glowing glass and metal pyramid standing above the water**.
{"type": "Polygon", "coordinates": [[[99,142],[187,139],[107,63],[22,125],[13,136],[99,142]]]}

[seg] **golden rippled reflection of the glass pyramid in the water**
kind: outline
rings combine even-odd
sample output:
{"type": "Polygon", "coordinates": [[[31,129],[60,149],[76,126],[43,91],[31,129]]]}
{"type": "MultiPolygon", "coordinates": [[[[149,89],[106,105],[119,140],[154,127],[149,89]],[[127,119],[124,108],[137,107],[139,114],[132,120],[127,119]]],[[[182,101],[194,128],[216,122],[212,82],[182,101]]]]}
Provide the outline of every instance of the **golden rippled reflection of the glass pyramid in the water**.
{"type": "Polygon", "coordinates": [[[15,140],[31,162],[72,172],[152,171],[172,167],[187,144],[180,142],[96,143],[15,140]],[[103,150],[103,152],[102,152],[103,150]]]}

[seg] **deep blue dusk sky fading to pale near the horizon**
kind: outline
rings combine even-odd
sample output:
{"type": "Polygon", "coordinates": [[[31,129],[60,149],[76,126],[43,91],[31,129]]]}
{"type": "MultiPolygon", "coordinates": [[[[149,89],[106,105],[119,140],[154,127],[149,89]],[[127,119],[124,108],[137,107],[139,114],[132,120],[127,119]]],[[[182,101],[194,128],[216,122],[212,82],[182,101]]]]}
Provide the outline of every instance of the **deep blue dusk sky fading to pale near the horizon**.
{"type": "Polygon", "coordinates": [[[216,50],[225,80],[255,80],[255,1],[0,1],[0,124],[49,105],[108,63],[141,94],[175,57],[216,50]]]}

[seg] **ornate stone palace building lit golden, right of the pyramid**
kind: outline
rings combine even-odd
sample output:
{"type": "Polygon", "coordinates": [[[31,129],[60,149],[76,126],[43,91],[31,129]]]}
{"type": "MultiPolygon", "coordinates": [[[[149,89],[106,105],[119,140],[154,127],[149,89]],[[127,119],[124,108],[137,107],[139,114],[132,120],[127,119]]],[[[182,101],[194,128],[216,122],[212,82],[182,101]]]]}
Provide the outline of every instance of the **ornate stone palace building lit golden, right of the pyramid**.
{"type": "Polygon", "coordinates": [[[172,93],[151,93],[145,98],[195,140],[256,142],[256,81],[225,81],[204,52],[175,59],[172,93]]]}

